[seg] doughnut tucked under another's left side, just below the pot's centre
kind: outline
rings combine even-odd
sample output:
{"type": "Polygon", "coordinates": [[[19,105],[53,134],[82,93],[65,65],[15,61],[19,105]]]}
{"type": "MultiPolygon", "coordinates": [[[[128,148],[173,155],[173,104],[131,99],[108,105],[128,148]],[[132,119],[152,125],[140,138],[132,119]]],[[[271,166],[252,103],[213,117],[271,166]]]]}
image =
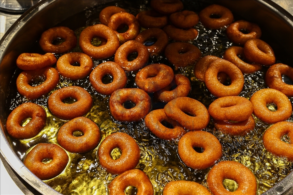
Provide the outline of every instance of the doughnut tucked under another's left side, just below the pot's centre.
{"type": "Polygon", "coordinates": [[[174,140],[186,133],[181,124],[167,117],[164,109],[151,111],[146,115],[144,121],[146,123],[146,127],[162,140],[174,140]],[[162,122],[171,124],[173,128],[167,128],[162,124],[162,122]]]}

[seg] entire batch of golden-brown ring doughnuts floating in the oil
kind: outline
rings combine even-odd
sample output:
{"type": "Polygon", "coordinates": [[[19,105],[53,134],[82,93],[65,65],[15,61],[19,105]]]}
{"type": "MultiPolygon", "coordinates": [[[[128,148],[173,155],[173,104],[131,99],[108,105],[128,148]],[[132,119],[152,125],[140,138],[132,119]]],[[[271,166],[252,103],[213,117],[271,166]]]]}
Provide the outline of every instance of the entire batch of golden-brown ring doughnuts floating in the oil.
{"type": "MultiPolygon", "coordinates": [[[[273,49],[260,40],[261,29],[257,24],[234,21],[232,12],[223,6],[210,5],[198,15],[183,10],[178,0],[151,0],[150,6],[152,9],[136,16],[127,9],[108,6],[100,12],[100,24],[84,28],[79,39],[68,27],[53,27],[41,35],[39,44],[44,55],[19,55],[17,66],[23,70],[17,78],[19,94],[32,101],[49,93],[48,112],[64,120],[56,135],[57,143],[32,146],[27,151],[25,166],[40,179],[48,180],[69,166],[69,153],[97,150],[100,165],[106,172],[118,175],[108,184],[109,194],[124,193],[128,186],[134,186],[136,194],[154,194],[148,173],[139,170],[143,148],[135,137],[116,132],[101,139],[99,127],[86,117],[92,112],[95,94],[80,86],[57,87],[60,75],[69,80],[88,78],[94,92],[109,98],[108,110],[115,122],[144,121],[146,128],[159,139],[178,141],[178,155],[186,166],[194,170],[210,169],[207,186],[185,180],[171,181],[164,186],[163,195],[225,194],[228,190],[223,186],[223,179],[226,178],[238,183],[235,193],[256,194],[257,181],[250,168],[222,158],[221,143],[205,128],[212,123],[215,131],[245,136],[254,131],[256,118],[273,124],[264,133],[264,147],[292,161],[293,142],[285,143],[280,138],[287,135],[293,140],[292,122],[286,121],[292,115],[288,97],[293,96],[293,85],[285,84],[281,78],[285,74],[293,80],[293,68],[275,64],[273,49]],[[195,28],[199,22],[206,29],[226,28],[234,46],[227,48],[223,56],[202,56],[200,49],[191,43],[201,33],[195,28]],[[125,25],[127,30],[121,32],[125,25]],[[248,33],[243,33],[243,29],[248,33]],[[95,37],[101,40],[98,46],[92,44],[95,37]],[[64,42],[53,44],[57,38],[64,42]],[[154,43],[146,44],[150,39],[155,39],[154,43]],[[73,51],[76,45],[80,52],[73,51]],[[137,57],[129,59],[133,53],[137,57]],[[170,65],[149,63],[150,57],[161,54],[170,65]],[[97,59],[103,59],[103,63],[93,63],[97,59]],[[269,88],[256,91],[252,97],[240,97],[244,74],[264,66],[270,66],[265,75],[269,88]],[[174,74],[174,70],[184,67],[192,67],[195,78],[215,98],[208,108],[189,97],[191,91],[197,90],[191,88],[189,78],[174,74]],[[133,86],[127,78],[131,74],[135,75],[133,86]],[[107,75],[112,78],[110,83],[103,81],[107,75]],[[31,86],[39,77],[44,82],[31,86]],[[64,103],[68,98],[75,101],[64,103]],[[162,108],[154,106],[153,98],[162,102],[162,108]],[[125,106],[127,102],[132,102],[133,107],[125,106]],[[275,112],[268,109],[269,104],[276,105],[275,112]],[[75,136],[75,131],[82,135],[75,136]],[[194,147],[204,151],[198,152],[194,147]],[[118,159],[111,156],[115,148],[121,150],[118,159]],[[44,159],[52,161],[45,164],[44,159]],[[193,188],[196,190],[190,191],[193,188]]],[[[15,108],[6,120],[8,134],[18,140],[37,136],[45,125],[44,109],[31,102],[15,108]],[[31,120],[23,125],[28,118],[31,120]]]]}

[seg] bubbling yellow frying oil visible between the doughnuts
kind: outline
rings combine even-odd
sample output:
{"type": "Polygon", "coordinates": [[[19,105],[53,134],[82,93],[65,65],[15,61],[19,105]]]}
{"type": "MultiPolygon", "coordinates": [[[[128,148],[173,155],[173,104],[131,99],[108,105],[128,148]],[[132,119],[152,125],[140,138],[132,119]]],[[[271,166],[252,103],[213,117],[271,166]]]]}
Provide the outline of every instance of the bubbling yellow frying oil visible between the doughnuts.
{"type": "MultiPolygon", "coordinates": [[[[183,1],[183,3],[186,8],[192,8],[197,13],[206,6],[197,1],[183,1]]],[[[107,6],[110,5],[118,5],[134,15],[140,11],[149,9],[147,1],[142,1],[142,5],[136,7],[129,6],[127,2],[113,2],[107,6]]],[[[80,32],[85,26],[99,23],[97,19],[99,16],[98,13],[104,7],[106,7],[106,5],[86,10],[83,13],[77,14],[77,16],[68,18],[60,25],[66,26],[66,24],[72,23],[69,21],[78,18],[80,22],[75,22],[74,24],[78,25],[70,26],[70,28],[73,30],[75,29],[75,33],[77,37],[79,37],[80,32]]],[[[205,29],[201,23],[195,28],[198,30],[199,36],[190,43],[200,48],[203,55],[222,57],[225,49],[233,45],[226,37],[225,29],[205,29]]],[[[100,44],[100,40],[98,39],[92,41],[93,44],[100,44]]],[[[35,50],[38,48],[39,46],[36,46],[35,50]]],[[[77,45],[72,52],[81,52],[80,47],[77,45]]],[[[39,51],[39,53],[42,53],[42,51],[39,51]]],[[[56,57],[59,58],[60,56],[61,55],[57,55],[56,57]]],[[[114,60],[113,57],[103,60],[93,60],[94,67],[106,61],[114,60]]],[[[173,65],[167,61],[164,55],[151,55],[148,64],[152,63],[164,63],[174,69],[173,65]]],[[[198,81],[194,77],[193,68],[194,66],[192,65],[185,68],[174,69],[174,73],[181,73],[190,79],[191,92],[189,97],[200,101],[208,108],[216,97],[209,93],[203,82],[198,81]]],[[[265,71],[266,69],[264,68],[261,71],[244,75],[244,89],[239,96],[249,99],[257,90],[266,88],[264,83],[265,71]]],[[[11,112],[11,110],[18,105],[29,101],[18,94],[16,90],[15,81],[19,73],[19,69],[15,71],[9,87],[6,100],[6,109],[8,112],[11,112]]],[[[128,79],[126,88],[136,87],[134,81],[136,73],[137,71],[127,72],[128,79]]],[[[53,91],[66,86],[80,86],[91,94],[93,106],[85,117],[91,119],[99,126],[101,142],[106,136],[115,132],[125,132],[137,141],[141,149],[141,157],[136,168],[144,171],[150,178],[154,186],[154,194],[162,194],[164,186],[168,182],[175,180],[194,181],[207,187],[206,176],[211,167],[205,170],[193,170],[185,166],[177,152],[179,139],[166,141],[157,138],[146,128],[144,120],[125,123],[113,119],[108,107],[109,96],[98,94],[92,88],[88,77],[72,81],[61,76],[60,82],[54,90],[37,100],[31,101],[41,105],[45,109],[47,121],[45,128],[36,137],[27,140],[9,138],[11,146],[21,160],[24,160],[27,152],[37,143],[58,144],[58,130],[67,121],[54,117],[48,109],[47,101],[49,95],[53,93],[53,91]]],[[[158,102],[152,94],[149,95],[152,99],[152,109],[164,107],[164,103],[158,102]]],[[[293,100],[291,99],[290,101],[293,104],[293,100]]],[[[70,103],[70,101],[68,101],[68,103],[70,103]]],[[[220,161],[232,160],[247,166],[256,177],[258,183],[257,194],[262,194],[289,174],[293,169],[293,165],[292,162],[289,162],[286,158],[276,157],[265,150],[262,143],[262,136],[270,125],[258,120],[256,117],[254,117],[254,119],[256,121],[255,129],[245,136],[231,136],[217,131],[214,128],[213,119],[210,120],[208,126],[203,130],[216,136],[223,146],[223,155],[220,161]]],[[[293,122],[293,117],[291,116],[288,121],[293,122]]],[[[286,136],[283,136],[282,140],[287,143],[290,142],[289,138],[286,136]]],[[[67,151],[69,162],[66,169],[59,176],[44,182],[63,194],[108,194],[107,185],[117,175],[107,173],[100,165],[97,155],[99,146],[100,144],[95,149],[82,154],[67,151]]],[[[120,153],[121,151],[119,151],[119,149],[115,149],[112,151],[112,157],[119,158],[120,153]]],[[[237,183],[234,181],[225,180],[223,184],[226,189],[230,191],[237,189],[237,183]]],[[[134,193],[133,191],[135,191],[133,188],[127,189],[127,193],[134,193]]]]}

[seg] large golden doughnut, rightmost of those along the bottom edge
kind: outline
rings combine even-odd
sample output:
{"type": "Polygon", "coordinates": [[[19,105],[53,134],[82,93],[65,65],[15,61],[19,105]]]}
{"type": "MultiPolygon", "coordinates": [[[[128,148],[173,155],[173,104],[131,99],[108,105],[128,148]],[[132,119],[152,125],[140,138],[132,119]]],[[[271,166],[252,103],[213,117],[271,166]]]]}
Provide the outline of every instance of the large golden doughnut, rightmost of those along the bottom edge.
{"type": "Polygon", "coordinates": [[[246,166],[235,161],[221,161],[213,166],[207,176],[207,184],[213,195],[223,194],[256,194],[256,178],[246,166]],[[231,179],[237,182],[238,188],[229,193],[223,180],[231,179]]]}

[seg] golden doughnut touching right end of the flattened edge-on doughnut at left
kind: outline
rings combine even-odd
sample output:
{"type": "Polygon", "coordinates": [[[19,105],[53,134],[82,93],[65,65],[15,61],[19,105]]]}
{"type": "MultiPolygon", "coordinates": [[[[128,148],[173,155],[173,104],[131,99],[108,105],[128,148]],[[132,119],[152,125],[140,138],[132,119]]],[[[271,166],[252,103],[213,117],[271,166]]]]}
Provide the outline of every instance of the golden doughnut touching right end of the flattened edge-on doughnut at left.
{"type": "Polygon", "coordinates": [[[72,80],[79,80],[88,76],[92,68],[93,63],[91,57],[80,52],[64,54],[57,61],[57,70],[60,75],[72,80]],[[73,66],[76,62],[80,66],[73,66]]]}

